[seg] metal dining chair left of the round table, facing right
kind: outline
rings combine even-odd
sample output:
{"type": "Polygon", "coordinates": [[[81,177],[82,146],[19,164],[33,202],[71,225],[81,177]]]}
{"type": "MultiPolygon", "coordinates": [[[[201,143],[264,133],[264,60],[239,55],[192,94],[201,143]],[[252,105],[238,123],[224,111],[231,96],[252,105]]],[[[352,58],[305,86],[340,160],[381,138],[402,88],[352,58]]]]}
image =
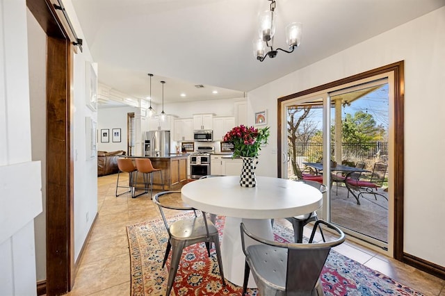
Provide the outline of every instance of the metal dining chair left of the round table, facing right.
{"type": "Polygon", "coordinates": [[[168,243],[165,249],[165,256],[162,263],[162,268],[165,266],[168,254],[170,254],[170,249],[172,249],[172,259],[170,262],[170,269],[168,271],[167,293],[165,293],[165,295],[170,295],[170,291],[172,290],[173,282],[175,281],[176,273],[179,266],[179,261],[181,260],[182,250],[185,247],[194,245],[198,242],[206,243],[209,256],[211,242],[213,242],[213,244],[215,245],[216,258],[218,260],[218,266],[220,268],[221,279],[223,281],[223,286],[225,286],[218,229],[216,229],[215,225],[213,225],[211,221],[207,221],[206,213],[202,212],[202,215],[197,216],[197,212],[199,211],[195,208],[186,206],[184,204],[181,205],[177,202],[173,203],[171,202],[172,200],[181,200],[181,192],[163,191],[157,193],[153,197],[153,202],[159,207],[162,220],[168,232],[168,243]],[[193,217],[186,217],[184,219],[171,222],[169,224],[168,220],[165,218],[165,214],[163,211],[164,208],[177,211],[193,211],[195,215],[193,217]]]}

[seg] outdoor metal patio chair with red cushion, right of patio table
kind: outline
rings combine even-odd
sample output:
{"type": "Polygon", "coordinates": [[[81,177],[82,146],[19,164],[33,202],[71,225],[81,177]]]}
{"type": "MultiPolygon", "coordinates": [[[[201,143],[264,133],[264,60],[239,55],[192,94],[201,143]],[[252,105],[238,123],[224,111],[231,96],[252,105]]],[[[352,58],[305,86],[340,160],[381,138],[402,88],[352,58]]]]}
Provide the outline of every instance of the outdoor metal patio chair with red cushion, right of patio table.
{"type": "Polygon", "coordinates": [[[357,195],[357,202],[360,195],[364,194],[374,195],[375,200],[377,200],[377,195],[380,195],[381,197],[388,200],[388,197],[378,192],[378,188],[381,188],[383,186],[383,182],[385,181],[387,168],[387,163],[374,163],[373,172],[369,181],[363,179],[346,179],[346,186],[359,192],[359,194],[357,195]]]}

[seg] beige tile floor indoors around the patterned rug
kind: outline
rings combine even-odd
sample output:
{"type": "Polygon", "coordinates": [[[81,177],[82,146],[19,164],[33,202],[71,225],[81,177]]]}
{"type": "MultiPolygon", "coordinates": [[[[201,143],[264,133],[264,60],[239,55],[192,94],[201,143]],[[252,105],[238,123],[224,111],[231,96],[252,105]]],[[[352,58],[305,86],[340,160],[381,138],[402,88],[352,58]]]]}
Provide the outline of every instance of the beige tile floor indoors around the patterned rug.
{"type": "MultiPolygon", "coordinates": [[[[115,197],[117,175],[97,180],[98,216],[68,295],[129,295],[130,260],[126,226],[160,218],[149,195],[115,197]]],[[[445,296],[445,280],[346,241],[337,252],[378,270],[425,295],[445,296]]]]}

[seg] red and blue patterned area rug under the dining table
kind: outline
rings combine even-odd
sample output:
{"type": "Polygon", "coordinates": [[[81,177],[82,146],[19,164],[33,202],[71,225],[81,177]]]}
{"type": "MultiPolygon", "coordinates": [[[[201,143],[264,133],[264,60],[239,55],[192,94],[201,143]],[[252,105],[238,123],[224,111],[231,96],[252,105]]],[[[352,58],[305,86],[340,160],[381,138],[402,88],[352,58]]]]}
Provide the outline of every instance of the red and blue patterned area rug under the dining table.
{"type": "MultiPolygon", "coordinates": [[[[176,215],[174,221],[187,214],[176,215]]],[[[224,217],[216,226],[223,229],[224,217]]],[[[275,240],[292,241],[293,231],[274,224],[275,240]]],[[[165,295],[168,266],[162,268],[168,233],[163,221],[152,220],[127,227],[131,258],[131,295],[165,295]]],[[[222,238],[222,233],[220,233],[222,238]]],[[[171,253],[171,252],[170,252],[171,253]]],[[[166,265],[169,265],[170,259],[166,265]]],[[[422,295],[384,274],[331,250],[321,274],[325,295],[422,295]]],[[[241,295],[242,288],[226,281],[223,286],[215,250],[207,256],[204,244],[184,249],[170,295],[241,295]]],[[[248,295],[258,295],[248,290],[248,295]]],[[[266,295],[264,295],[266,296],[266,295]]]]}

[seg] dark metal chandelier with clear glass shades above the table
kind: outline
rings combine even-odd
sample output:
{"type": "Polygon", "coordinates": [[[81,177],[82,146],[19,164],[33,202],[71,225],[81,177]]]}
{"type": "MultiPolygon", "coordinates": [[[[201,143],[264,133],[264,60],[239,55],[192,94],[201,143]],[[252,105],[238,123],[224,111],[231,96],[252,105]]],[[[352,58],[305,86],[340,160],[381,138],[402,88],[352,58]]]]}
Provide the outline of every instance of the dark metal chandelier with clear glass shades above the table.
{"type": "Polygon", "coordinates": [[[257,60],[262,62],[266,56],[269,58],[275,58],[278,51],[284,51],[288,54],[293,52],[300,45],[302,24],[298,22],[292,22],[286,26],[286,43],[289,46],[289,50],[286,49],[273,49],[273,36],[275,34],[275,19],[277,14],[275,13],[275,0],[270,1],[270,10],[266,10],[259,14],[259,37],[253,40],[253,54],[257,57],[257,60]],[[266,47],[270,49],[266,54],[266,47]]]}

